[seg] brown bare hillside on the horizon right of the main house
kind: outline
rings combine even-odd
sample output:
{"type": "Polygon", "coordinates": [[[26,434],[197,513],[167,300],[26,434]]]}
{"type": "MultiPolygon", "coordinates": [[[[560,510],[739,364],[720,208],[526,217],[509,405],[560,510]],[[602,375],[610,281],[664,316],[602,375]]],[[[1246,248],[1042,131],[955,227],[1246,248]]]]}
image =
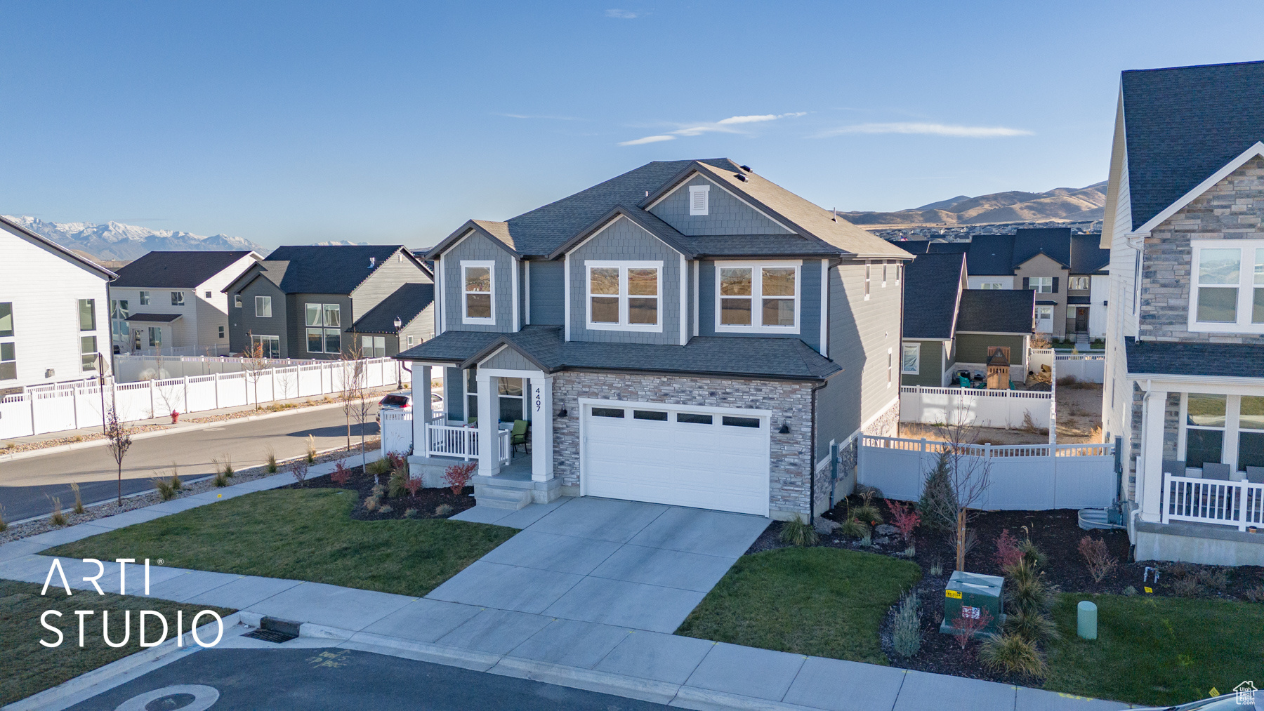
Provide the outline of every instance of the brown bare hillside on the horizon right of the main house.
{"type": "Polygon", "coordinates": [[[897,212],[839,212],[853,225],[982,225],[986,222],[1085,222],[1101,220],[1106,182],[1049,192],[997,192],[932,202],[897,212]]]}

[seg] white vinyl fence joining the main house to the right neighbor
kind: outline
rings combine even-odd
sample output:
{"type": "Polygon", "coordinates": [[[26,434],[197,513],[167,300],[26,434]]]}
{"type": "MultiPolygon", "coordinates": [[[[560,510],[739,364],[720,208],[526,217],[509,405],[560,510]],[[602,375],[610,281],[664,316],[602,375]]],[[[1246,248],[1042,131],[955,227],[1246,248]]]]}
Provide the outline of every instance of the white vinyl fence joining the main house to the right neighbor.
{"type": "MultiPolygon", "coordinates": [[[[916,501],[927,474],[949,445],[928,439],[861,439],[857,481],[887,499],[916,501]]],[[[1115,499],[1114,445],[968,445],[963,466],[988,465],[991,485],[977,508],[1083,509],[1115,499]]],[[[977,471],[977,470],[975,470],[977,471]]]]}

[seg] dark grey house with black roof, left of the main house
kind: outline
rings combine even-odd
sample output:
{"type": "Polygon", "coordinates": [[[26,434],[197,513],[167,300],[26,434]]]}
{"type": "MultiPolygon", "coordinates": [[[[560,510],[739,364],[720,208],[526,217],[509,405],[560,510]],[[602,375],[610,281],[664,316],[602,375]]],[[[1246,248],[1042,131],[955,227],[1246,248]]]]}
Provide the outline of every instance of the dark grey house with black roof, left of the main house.
{"type": "Polygon", "coordinates": [[[402,245],[281,246],[224,292],[233,352],[258,349],[264,357],[316,360],[391,356],[399,352],[398,338],[421,342],[434,333],[434,318],[426,317],[432,313],[426,311],[434,299],[431,273],[402,245]],[[373,313],[383,303],[388,306],[373,313]]]}

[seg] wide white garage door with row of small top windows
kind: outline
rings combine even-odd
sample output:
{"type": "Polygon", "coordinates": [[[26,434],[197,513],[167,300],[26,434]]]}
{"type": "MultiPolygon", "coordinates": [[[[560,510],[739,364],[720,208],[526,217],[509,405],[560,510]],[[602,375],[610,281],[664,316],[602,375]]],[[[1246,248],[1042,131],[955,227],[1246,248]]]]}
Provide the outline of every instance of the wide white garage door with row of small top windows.
{"type": "Polygon", "coordinates": [[[583,493],[769,514],[769,417],[659,403],[583,405],[583,493]]]}

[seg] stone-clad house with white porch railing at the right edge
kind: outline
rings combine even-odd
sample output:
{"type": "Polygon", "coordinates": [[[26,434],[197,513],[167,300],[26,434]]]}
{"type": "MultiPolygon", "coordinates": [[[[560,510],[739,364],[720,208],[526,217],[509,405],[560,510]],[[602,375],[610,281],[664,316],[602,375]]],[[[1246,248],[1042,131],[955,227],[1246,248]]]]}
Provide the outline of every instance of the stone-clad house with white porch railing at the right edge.
{"type": "Polygon", "coordinates": [[[1122,73],[1103,428],[1138,559],[1264,565],[1264,62],[1122,73]]]}

